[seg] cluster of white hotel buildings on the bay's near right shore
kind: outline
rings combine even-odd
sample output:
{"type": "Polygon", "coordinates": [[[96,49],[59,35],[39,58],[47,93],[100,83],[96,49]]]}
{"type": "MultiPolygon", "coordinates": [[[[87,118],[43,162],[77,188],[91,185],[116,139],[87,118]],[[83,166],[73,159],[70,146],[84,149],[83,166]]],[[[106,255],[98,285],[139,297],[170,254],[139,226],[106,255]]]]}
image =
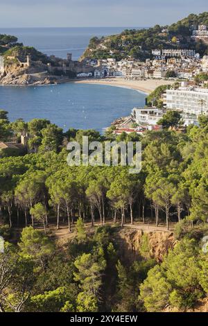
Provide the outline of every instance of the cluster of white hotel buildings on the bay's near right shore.
{"type": "Polygon", "coordinates": [[[177,84],[177,87],[173,85],[170,89],[166,89],[160,101],[163,103],[162,108],[154,105],[133,108],[129,117],[114,121],[112,123],[114,133],[137,132],[143,135],[147,130],[162,129],[158,123],[168,111],[180,113],[184,128],[190,125],[198,126],[198,117],[208,115],[208,89],[204,86],[196,87],[188,81],[180,83],[180,86],[177,84]]]}

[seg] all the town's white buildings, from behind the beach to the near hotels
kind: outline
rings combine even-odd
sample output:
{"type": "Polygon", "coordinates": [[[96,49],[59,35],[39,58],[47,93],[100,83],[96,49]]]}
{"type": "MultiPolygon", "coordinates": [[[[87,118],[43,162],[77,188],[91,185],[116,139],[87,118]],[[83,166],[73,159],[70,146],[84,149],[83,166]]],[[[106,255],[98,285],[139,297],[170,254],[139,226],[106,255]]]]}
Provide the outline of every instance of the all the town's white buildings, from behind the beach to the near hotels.
{"type": "MultiPolygon", "coordinates": [[[[194,40],[208,41],[208,28],[205,25],[191,26],[191,33],[194,40]]],[[[180,43],[180,40],[177,42],[180,43]]],[[[184,127],[198,125],[198,117],[208,114],[208,55],[200,58],[199,53],[190,49],[155,49],[152,50],[152,57],[145,62],[132,58],[121,61],[116,61],[115,58],[88,61],[95,69],[94,78],[107,80],[111,85],[128,87],[134,83],[138,85],[138,81],[144,85],[148,80],[159,80],[159,85],[168,85],[161,94],[162,105],[160,103],[159,108],[153,99],[149,106],[133,108],[129,117],[114,121],[112,126],[117,135],[122,132],[142,135],[146,130],[158,130],[162,126],[157,123],[167,110],[180,112],[184,127]]],[[[83,73],[77,77],[88,78],[83,73]]]]}

